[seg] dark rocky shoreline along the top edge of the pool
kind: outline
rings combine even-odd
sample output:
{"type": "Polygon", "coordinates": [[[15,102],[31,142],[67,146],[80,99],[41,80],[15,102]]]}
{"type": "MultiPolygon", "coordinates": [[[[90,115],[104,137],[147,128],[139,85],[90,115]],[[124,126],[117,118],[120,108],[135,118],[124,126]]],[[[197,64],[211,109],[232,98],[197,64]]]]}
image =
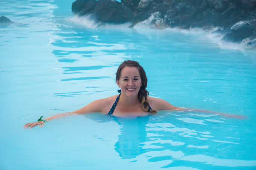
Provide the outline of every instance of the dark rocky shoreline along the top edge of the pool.
{"type": "Polygon", "coordinates": [[[256,49],[256,0],[76,0],[75,15],[130,27],[219,29],[222,40],[256,49]]]}

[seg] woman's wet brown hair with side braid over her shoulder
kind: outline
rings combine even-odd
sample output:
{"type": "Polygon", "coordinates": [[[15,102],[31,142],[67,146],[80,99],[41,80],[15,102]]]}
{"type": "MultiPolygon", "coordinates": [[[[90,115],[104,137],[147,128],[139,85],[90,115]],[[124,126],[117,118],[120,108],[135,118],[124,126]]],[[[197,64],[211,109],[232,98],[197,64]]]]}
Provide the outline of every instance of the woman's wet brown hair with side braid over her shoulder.
{"type": "MultiPolygon", "coordinates": [[[[141,102],[140,105],[141,105],[142,110],[143,111],[148,111],[149,103],[148,103],[147,97],[149,95],[149,92],[148,92],[148,90],[146,90],[146,87],[147,87],[147,84],[148,84],[148,78],[146,76],[146,72],[138,62],[133,61],[133,60],[127,60],[127,61],[124,61],[119,66],[119,68],[117,69],[116,80],[120,79],[121,71],[126,66],[136,67],[136,68],[139,69],[139,74],[140,74],[140,78],[141,78],[141,81],[142,81],[142,86],[140,87],[140,90],[139,90],[139,93],[138,93],[138,98],[141,102]]],[[[149,112],[150,113],[157,113],[157,111],[155,111],[153,109],[151,109],[149,112]]]]}

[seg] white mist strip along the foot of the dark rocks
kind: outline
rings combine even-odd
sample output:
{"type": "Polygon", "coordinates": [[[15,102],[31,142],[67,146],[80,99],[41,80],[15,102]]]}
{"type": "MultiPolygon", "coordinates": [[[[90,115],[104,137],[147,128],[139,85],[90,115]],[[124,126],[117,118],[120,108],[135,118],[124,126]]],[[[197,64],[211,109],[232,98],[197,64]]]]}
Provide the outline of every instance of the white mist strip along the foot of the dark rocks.
{"type": "MultiPolygon", "coordinates": [[[[223,35],[221,33],[214,33],[214,31],[221,29],[219,27],[215,27],[209,30],[203,30],[201,28],[193,28],[193,29],[180,29],[180,28],[170,28],[170,27],[155,27],[154,24],[144,24],[137,25],[136,27],[130,28],[132,23],[124,23],[124,24],[107,24],[101,23],[97,21],[93,14],[84,15],[79,17],[78,15],[74,15],[73,18],[70,18],[70,21],[78,27],[84,28],[113,28],[113,29],[135,29],[138,32],[143,32],[143,30],[151,30],[160,31],[163,30],[165,33],[183,33],[184,35],[195,35],[195,38],[200,39],[200,41],[212,42],[217,44],[221,49],[230,49],[230,50],[238,50],[247,53],[248,47],[243,43],[233,43],[222,41],[221,38],[223,35]],[[168,30],[167,32],[165,30],[168,30]]],[[[253,53],[255,50],[249,50],[253,53]]]]}

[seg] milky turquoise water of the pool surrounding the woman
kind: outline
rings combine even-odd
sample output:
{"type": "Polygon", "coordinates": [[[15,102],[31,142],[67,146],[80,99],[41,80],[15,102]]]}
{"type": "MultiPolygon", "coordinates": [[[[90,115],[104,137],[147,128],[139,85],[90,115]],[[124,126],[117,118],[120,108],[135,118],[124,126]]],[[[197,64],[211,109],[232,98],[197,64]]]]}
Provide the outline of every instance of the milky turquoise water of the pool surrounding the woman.
{"type": "Polygon", "coordinates": [[[256,168],[255,52],[200,31],[85,27],[71,0],[0,2],[14,22],[0,27],[0,169],[256,168]],[[144,67],[150,96],[248,118],[94,113],[22,128],[116,95],[115,72],[128,59],[144,67]]]}

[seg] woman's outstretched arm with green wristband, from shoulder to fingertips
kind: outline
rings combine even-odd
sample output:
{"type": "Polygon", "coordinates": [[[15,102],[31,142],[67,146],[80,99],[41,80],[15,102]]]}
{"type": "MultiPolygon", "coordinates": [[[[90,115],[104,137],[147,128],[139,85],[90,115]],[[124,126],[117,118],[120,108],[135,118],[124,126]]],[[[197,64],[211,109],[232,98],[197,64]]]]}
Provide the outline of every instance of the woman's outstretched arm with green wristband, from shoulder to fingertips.
{"type": "MultiPolygon", "coordinates": [[[[100,99],[100,100],[96,100],[91,102],[90,104],[86,105],[85,107],[73,111],[73,112],[69,112],[69,113],[62,113],[62,114],[56,114],[50,117],[47,117],[46,119],[44,119],[45,121],[49,121],[49,120],[53,120],[53,119],[58,119],[59,117],[63,117],[63,116],[67,116],[67,115],[73,115],[73,114],[86,114],[86,113],[96,113],[96,112],[102,112],[102,106],[105,105],[105,99],[100,99]]],[[[40,125],[41,127],[44,126],[44,121],[43,120],[39,120],[37,122],[31,122],[31,123],[26,123],[23,128],[26,129],[28,127],[30,127],[29,129],[40,125]]]]}

